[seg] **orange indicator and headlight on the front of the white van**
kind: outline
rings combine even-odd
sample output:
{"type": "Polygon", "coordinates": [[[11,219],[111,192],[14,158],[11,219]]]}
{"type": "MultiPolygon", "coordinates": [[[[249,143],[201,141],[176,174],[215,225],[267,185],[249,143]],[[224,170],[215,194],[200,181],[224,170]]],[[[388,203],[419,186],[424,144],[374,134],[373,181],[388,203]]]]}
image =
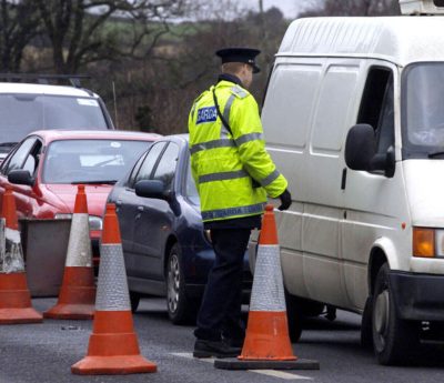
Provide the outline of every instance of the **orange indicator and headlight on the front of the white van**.
{"type": "Polygon", "coordinates": [[[413,228],[413,256],[444,256],[444,230],[413,228]]]}

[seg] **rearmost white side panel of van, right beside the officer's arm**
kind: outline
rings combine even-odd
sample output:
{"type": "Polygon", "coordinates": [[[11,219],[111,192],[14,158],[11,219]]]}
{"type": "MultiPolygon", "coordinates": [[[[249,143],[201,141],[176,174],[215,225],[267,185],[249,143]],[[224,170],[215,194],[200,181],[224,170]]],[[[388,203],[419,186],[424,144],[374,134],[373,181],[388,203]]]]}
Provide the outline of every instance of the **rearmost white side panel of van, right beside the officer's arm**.
{"type": "Polygon", "coordinates": [[[304,172],[303,158],[307,152],[322,70],[322,60],[296,63],[280,59],[268,88],[266,107],[262,111],[268,150],[289,180],[293,194],[291,209],[285,214],[276,212],[276,224],[284,284],[300,296],[309,296],[302,256],[302,201],[307,196],[307,183],[301,182],[301,174],[304,172]]]}

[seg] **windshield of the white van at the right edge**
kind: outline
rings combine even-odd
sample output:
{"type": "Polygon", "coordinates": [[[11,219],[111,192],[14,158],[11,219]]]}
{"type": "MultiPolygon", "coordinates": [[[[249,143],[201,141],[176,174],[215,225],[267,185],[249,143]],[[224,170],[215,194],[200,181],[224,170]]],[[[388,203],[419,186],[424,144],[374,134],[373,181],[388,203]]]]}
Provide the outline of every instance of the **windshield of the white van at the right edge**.
{"type": "Polygon", "coordinates": [[[407,67],[402,98],[404,157],[444,158],[444,62],[407,67]]]}

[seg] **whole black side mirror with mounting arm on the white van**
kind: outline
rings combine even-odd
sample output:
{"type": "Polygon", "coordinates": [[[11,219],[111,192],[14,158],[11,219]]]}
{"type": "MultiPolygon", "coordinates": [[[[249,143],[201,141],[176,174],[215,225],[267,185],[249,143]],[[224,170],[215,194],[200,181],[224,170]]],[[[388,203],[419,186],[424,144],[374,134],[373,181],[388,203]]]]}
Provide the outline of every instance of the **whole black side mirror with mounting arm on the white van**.
{"type": "Polygon", "coordinates": [[[356,124],[345,142],[345,163],[353,170],[384,171],[384,175],[395,174],[395,150],[391,145],[386,153],[376,153],[376,138],[369,124],[356,124]]]}

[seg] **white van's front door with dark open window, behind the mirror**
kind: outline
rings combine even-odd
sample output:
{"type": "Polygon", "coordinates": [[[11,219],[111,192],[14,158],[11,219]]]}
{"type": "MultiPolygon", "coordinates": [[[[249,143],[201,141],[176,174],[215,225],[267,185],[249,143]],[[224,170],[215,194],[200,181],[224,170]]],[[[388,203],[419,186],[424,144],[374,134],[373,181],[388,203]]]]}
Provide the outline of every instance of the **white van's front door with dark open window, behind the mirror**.
{"type": "MultiPolygon", "coordinates": [[[[344,162],[344,212],[341,222],[343,275],[351,308],[364,309],[369,295],[367,265],[372,249],[379,242],[383,254],[402,241],[402,222],[408,209],[401,167],[401,129],[398,72],[391,63],[367,61],[367,75],[362,84],[356,123],[374,128],[377,153],[395,150],[393,178],[382,171],[353,171],[344,162]]],[[[346,135],[344,137],[345,141],[346,135]]],[[[385,254],[387,255],[387,254],[385,254]]]]}

